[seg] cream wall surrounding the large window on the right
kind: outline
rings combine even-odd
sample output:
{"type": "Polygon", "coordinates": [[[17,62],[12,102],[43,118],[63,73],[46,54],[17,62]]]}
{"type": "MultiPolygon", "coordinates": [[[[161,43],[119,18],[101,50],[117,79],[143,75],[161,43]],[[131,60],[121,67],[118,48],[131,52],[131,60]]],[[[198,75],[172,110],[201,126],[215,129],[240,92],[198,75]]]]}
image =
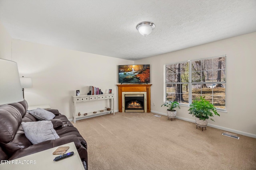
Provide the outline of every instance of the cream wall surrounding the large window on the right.
{"type": "MultiPolygon", "coordinates": [[[[166,114],[166,107],[161,107],[164,101],[164,64],[225,54],[227,113],[219,112],[220,117],[214,116],[215,122],[209,123],[212,127],[256,137],[256,32],[135,61],[134,64],[150,64],[151,111],[166,114]]],[[[177,116],[194,122],[188,108],[178,109],[177,116]]]]}

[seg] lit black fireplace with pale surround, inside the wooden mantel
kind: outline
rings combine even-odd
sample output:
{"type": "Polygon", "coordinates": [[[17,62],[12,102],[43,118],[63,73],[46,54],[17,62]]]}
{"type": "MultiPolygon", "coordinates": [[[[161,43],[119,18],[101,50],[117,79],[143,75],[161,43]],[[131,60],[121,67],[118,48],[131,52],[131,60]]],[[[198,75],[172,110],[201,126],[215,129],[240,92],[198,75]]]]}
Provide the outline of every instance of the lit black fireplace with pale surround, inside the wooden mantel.
{"type": "Polygon", "coordinates": [[[124,112],[144,112],[144,94],[124,94],[124,112]]]}

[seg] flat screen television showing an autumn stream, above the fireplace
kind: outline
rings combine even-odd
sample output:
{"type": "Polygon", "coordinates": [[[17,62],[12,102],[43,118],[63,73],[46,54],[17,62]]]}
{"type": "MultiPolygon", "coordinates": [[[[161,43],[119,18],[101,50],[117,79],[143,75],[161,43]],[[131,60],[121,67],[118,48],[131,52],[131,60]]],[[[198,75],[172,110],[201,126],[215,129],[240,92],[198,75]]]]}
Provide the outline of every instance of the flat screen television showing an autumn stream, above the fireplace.
{"type": "Polygon", "coordinates": [[[119,83],[150,83],[150,65],[119,65],[119,83]]]}

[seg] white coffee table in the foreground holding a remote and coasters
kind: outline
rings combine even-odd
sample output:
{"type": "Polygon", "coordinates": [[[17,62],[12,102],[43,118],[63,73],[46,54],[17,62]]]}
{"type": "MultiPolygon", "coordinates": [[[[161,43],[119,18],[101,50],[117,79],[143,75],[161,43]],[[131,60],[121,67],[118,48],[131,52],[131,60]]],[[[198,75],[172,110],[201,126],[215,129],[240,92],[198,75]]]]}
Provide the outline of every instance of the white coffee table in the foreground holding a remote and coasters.
{"type": "MultiPolygon", "coordinates": [[[[62,160],[53,161],[56,156],[52,154],[58,147],[47,149],[41,152],[30,154],[10,162],[0,162],[0,170],[84,170],[81,158],[76,150],[74,142],[61,146],[68,146],[68,152],[74,152],[74,155],[62,160]]],[[[60,147],[60,146],[59,146],[60,147]]]]}

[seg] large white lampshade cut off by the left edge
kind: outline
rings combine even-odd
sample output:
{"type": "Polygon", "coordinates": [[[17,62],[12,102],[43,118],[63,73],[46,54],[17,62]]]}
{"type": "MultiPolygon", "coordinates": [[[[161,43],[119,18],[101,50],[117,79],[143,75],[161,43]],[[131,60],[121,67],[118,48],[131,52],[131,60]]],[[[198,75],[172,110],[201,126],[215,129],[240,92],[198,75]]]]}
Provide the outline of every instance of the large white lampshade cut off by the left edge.
{"type": "Polygon", "coordinates": [[[17,63],[0,59],[0,105],[23,101],[17,63]]]}

